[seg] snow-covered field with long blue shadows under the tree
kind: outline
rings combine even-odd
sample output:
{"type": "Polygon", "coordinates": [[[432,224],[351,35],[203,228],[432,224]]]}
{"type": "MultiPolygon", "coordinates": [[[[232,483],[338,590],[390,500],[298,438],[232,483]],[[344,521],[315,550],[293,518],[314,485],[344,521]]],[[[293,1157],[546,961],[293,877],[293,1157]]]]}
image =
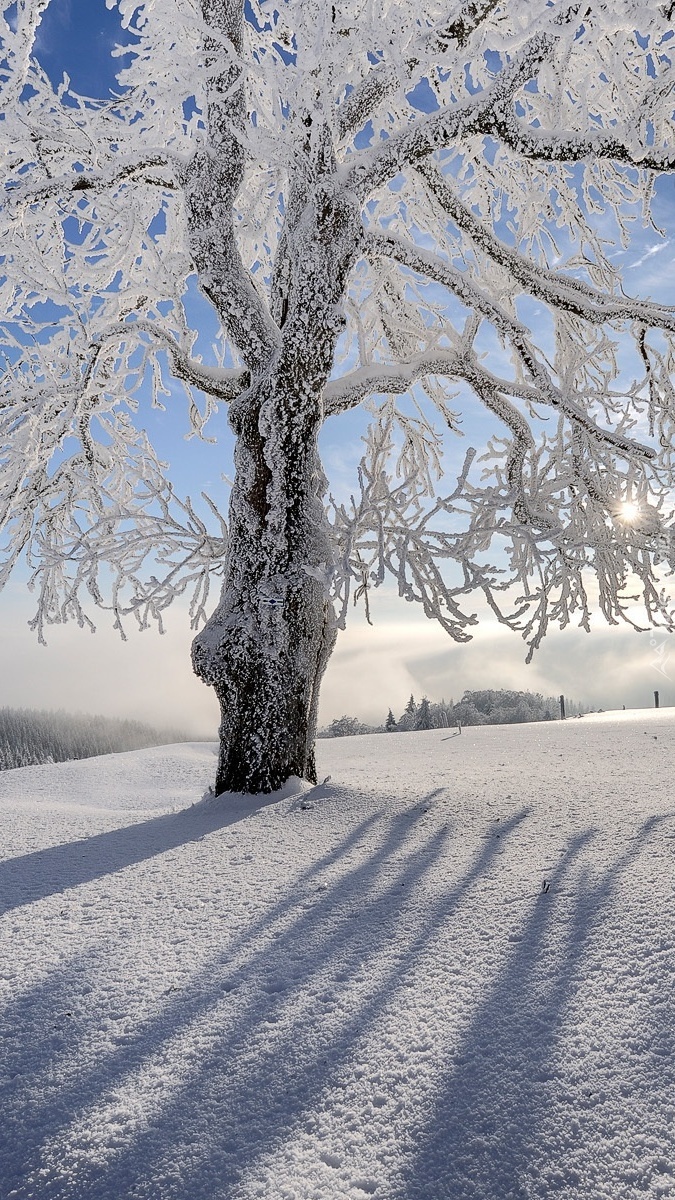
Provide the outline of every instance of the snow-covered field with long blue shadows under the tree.
{"type": "Polygon", "coordinates": [[[0,1195],[675,1198],[675,710],[0,775],[0,1195]]]}

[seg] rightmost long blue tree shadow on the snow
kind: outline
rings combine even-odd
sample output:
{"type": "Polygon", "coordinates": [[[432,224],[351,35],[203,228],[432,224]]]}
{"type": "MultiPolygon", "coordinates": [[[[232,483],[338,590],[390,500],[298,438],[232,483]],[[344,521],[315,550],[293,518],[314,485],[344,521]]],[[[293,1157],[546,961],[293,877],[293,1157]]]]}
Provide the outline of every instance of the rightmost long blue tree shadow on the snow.
{"type": "MultiPolygon", "coordinates": [[[[404,1172],[405,1200],[532,1200],[558,1190],[557,1164],[546,1160],[536,1138],[546,1097],[560,1103],[556,1051],[566,1008],[584,979],[584,955],[602,926],[603,910],[663,820],[645,821],[626,852],[595,878],[585,868],[574,882],[569,878],[592,834],[571,844],[519,930],[514,952],[459,1054],[446,1066],[446,1084],[404,1172]]],[[[663,1058],[658,1066],[663,1072],[663,1058]]],[[[653,1079],[659,1079],[658,1072],[653,1079]]],[[[655,1094],[662,1094],[658,1087],[655,1094]]],[[[587,1096],[592,1100],[592,1093],[587,1096]]],[[[574,1098],[569,1117],[575,1115],[573,1105],[574,1098]]],[[[587,1194],[589,1180],[574,1180],[569,1170],[566,1184],[572,1188],[566,1195],[587,1194]]]]}

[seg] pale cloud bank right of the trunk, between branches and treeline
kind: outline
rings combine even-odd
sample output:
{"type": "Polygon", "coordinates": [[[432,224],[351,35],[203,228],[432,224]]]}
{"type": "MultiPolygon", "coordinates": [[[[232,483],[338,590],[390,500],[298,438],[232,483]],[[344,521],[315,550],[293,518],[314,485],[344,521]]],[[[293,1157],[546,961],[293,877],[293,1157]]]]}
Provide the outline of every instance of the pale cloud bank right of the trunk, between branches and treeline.
{"type": "Polygon", "coordinates": [[[675,704],[675,638],[661,631],[637,634],[598,620],[591,634],[552,629],[533,662],[526,665],[525,655],[521,638],[489,619],[467,644],[418,613],[398,622],[388,613],[372,629],[357,619],[328,667],[322,721],[348,713],[380,724],[389,707],[399,715],[411,692],[456,701],[479,688],[562,692],[592,708],[650,708],[658,689],[662,706],[675,704]]]}

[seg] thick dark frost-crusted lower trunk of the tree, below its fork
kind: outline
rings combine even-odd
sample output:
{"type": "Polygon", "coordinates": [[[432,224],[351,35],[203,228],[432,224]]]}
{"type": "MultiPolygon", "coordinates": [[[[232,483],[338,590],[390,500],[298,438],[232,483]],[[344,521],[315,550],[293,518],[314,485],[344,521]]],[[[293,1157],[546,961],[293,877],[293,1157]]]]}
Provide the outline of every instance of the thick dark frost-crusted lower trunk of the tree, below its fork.
{"type": "Polygon", "coordinates": [[[192,648],[221,708],[216,796],[271,792],[292,775],[316,782],[318,692],[336,637],[321,404],[279,378],[253,385],[231,413],[226,577],[192,648]]]}

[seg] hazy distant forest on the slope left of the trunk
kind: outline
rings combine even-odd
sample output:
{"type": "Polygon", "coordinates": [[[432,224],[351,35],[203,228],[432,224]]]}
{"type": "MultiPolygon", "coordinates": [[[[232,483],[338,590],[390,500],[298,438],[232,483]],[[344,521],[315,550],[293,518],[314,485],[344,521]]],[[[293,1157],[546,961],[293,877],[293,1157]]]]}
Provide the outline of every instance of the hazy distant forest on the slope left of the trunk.
{"type": "Polygon", "coordinates": [[[185,740],[185,733],[154,730],[142,721],[62,710],[0,708],[0,770],[185,740]]]}

